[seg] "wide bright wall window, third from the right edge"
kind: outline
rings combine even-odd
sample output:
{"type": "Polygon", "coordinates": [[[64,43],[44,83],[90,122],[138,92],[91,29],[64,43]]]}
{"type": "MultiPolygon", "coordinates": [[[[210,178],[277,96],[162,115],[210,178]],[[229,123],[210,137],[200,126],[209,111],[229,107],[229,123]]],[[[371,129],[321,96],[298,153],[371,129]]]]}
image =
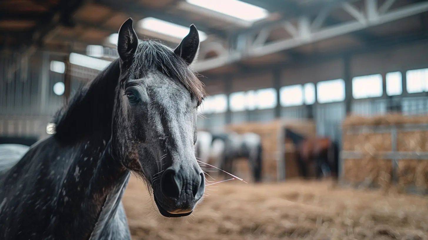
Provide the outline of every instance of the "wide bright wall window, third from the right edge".
{"type": "Polygon", "coordinates": [[[352,78],[352,96],[354,99],[380,97],[383,94],[382,75],[366,75],[352,78]]]}

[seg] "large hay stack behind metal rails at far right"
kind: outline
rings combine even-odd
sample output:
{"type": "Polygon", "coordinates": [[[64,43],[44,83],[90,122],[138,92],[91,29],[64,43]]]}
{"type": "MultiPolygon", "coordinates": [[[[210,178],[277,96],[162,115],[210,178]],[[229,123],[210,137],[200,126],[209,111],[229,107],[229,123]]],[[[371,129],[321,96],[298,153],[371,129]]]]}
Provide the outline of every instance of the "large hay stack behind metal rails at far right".
{"type": "MultiPolygon", "coordinates": [[[[426,116],[403,116],[389,114],[376,117],[350,116],[343,122],[343,150],[362,154],[362,159],[344,159],[343,180],[358,183],[366,187],[382,187],[389,189],[392,183],[392,159],[383,159],[386,152],[392,152],[391,132],[375,132],[375,129],[397,129],[396,146],[398,152],[428,152],[428,131],[404,131],[404,126],[413,124],[422,126],[428,123],[426,116]],[[373,131],[352,133],[355,126],[368,126],[373,131]]],[[[415,127],[417,129],[417,127],[415,127]]],[[[428,159],[399,159],[399,189],[416,187],[428,191],[428,159]]]]}

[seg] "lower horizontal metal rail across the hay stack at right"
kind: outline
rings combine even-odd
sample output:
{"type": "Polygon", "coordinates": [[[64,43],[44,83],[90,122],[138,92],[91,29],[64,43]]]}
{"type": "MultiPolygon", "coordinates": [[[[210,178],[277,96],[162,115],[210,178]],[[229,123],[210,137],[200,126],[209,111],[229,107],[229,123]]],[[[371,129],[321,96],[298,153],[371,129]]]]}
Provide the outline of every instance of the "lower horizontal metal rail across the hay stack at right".
{"type": "MultiPolygon", "coordinates": [[[[363,153],[357,151],[342,151],[340,153],[342,159],[362,159],[363,153]]],[[[428,160],[428,152],[377,152],[373,155],[376,159],[408,159],[408,160],[428,160]]]]}

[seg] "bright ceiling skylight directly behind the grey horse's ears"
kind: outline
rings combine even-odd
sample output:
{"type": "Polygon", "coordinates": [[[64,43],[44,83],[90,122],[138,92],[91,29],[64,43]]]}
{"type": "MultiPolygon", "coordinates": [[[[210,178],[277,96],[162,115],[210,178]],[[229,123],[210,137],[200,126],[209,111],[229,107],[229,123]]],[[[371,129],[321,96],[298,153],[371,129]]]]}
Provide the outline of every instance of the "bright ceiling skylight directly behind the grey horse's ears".
{"type": "MultiPolygon", "coordinates": [[[[219,1],[219,0],[216,0],[219,1]]],[[[211,2],[211,0],[209,1],[211,2]]],[[[171,22],[163,21],[158,18],[143,18],[139,22],[139,26],[142,29],[146,29],[155,33],[160,33],[166,36],[172,36],[174,38],[183,39],[187,34],[189,34],[189,27],[181,26],[178,24],[173,24],[171,22]]],[[[199,41],[203,42],[207,39],[207,34],[199,31],[199,41]]]]}

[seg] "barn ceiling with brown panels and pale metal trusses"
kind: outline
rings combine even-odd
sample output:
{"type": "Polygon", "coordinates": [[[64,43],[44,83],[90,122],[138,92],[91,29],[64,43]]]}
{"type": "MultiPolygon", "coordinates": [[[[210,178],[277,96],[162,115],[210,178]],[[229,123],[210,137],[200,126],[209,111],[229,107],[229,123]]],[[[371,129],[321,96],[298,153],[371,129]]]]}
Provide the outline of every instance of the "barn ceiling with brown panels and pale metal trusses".
{"type": "Polygon", "coordinates": [[[178,44],[179,39],[138,29],[137,22],[150,17],[184,27],[195,24],[207,35],[201,43],[196,69],[222,73],[287,63],[311,54],[345,51],[396,36],[426,38],[428,32],[427,0],[242,1],[267,10],[268,15],[248,22],[196,6],[192,0],[3,0],[0,1],[0,46],[3,50],[27,54],[38,49],[85,53],[87,45],[115,48],[109,36],[117,33],[129,17],[135,20],[134,27],[140,38],[157,38],[171,47],[178,44]],[[375,22],[370,19],[370,9],[375,9],[375,17],[395,10],[401,15],[395,20],[379,18],[382,22],[375,22]],[[398,12],[401,9],[413,12],[398,12]],[[362,26],[355,25],[354,21],[362,26]],[[354,25],[343,25],[347,23],[354,25]],[[305,24],[311,26],[309,33],[301,31],[305,24]],[[343,33],[317,38],[314,33],[318,32],[312,31],[314,28],[328,30],[342,26],[340,24],[348,27],[343,33]],[[349,31],[349,27],[355,30],[349,31]],[[305,36],[309,40],[305,40],[305,36]],[[283,43],[288,39],[300,41],[301,37],[303,42],[298,44],[283,43]]]}

